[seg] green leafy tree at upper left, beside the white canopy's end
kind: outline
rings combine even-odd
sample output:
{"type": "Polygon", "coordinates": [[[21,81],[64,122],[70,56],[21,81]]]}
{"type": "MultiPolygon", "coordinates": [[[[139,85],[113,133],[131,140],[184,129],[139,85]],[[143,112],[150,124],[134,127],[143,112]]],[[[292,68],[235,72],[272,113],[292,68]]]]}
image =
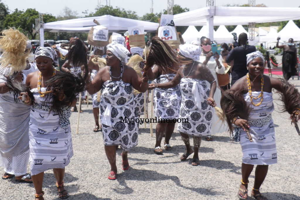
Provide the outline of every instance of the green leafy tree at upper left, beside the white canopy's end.
{"type": "MultiPolygon", "coordinates": [[[[7,14],[4,19],[4,27],[19,27],[19,31],[25,35],[30,35],[34,40],[36,37],[35,32],[35,18],[38,18],[38,11],[32,8],[28,8],[25,12],[16,9],[13,13],[7,14]]],[[[55,20],[55,17],[51,14],[44,15],[44,23],[55,20]]]]}

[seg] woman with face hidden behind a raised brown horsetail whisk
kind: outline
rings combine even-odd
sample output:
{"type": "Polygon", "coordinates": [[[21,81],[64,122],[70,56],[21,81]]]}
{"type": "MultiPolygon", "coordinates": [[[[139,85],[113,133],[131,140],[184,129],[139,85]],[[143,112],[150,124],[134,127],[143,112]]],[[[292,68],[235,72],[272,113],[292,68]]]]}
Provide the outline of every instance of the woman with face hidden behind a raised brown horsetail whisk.
{"type": "MultiPolygon", "coordinates": [[[[180,66],[180,60],[168,44],[160,38],[154,37],[152,38],[152,45],[150,47],[146,65],[152,67],[152,70],[149,69],[147,72],[150,80],[154,80],[154,83],[165,83],[175,77],[176,71],[180,66]],[[154,67],[149,65],[149,61],[151,60],[155,61],[152,65],[154,67]]],[[[159,118],[159,122],[156,125],[156,144],[154,151],[155,153],[162,153],[161,140],[164,134],[165,150],[169,151],[172,149],[169,143],[176,123],[165,121],[167,119],[173,120],[179,117],[181,92],[179,86],[174,86],[170,89],[155,88],[152,94],[154,95],[153,104],[155,116],[159,118]]]]}

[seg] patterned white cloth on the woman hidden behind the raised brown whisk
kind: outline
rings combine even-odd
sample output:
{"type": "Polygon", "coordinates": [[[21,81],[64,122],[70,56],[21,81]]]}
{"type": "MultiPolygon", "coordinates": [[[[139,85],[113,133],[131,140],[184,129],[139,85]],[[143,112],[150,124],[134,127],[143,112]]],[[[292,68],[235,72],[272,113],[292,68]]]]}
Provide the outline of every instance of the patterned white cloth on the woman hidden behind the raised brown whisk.
{"type": "MultiPolygon", "coordinates": [[[[173,80],[176,74],[161,75],[156,78],[154,83],[165,83],[173,80]],[[168,78],[169,79],[168,79],[168,78]]],[[[179,85],[169,89],[155,88],[154,89],[154,111],[155,116],[161,119],[175,119],[179,117],[179,108],[181,101],[181,92],[179,85]]]]}

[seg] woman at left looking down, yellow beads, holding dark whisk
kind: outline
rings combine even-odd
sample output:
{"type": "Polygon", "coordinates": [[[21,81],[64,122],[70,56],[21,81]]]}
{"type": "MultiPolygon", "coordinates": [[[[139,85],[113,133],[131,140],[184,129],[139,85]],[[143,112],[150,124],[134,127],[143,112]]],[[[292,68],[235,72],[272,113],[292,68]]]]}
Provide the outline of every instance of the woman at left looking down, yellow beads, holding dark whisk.
{"type": "Polygon", "coordinates": [[[21,93],[26,96],[24,103],[32,106],[29,163],[35,199],[44,199],[44,171],[49,169],[53,169],[59,197],[68,198],[63,179],[65,166],[73,156],[70,106],[76,104],[76,94],[83,91],[84,84],[72,74],[55,70],[54,67],[58,65],[57,54],[50,47],[38,47],[35,60],[39,71],[27,76],[26,86],[30,91],[21,93]],[[52,90],[53,94],[48,90],[52,90]]]}

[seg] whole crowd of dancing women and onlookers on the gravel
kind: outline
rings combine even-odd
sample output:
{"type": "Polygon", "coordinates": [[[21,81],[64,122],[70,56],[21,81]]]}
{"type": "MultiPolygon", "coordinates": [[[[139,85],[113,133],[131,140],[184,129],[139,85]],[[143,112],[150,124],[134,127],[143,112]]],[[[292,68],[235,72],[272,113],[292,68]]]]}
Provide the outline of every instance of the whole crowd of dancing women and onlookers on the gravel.
{"type": "MultiPolygon", "coordinates": [[[[59,198],[69,197],[63,181],[65,167],[73,156],[69,118],[72,111],[81,110],[76,108],[77,99],[80,95],[84,99],[87,93],[92,95],[93,131],[103,133],[111,166],[108,179],[116,179],[116,149],[122,148],[121,166],[127,170],[128,153],[138,145],[139,135],[139,123],[131,120],[146,113],[147,90],[152,90],[155,117],[164,119],[156,126],[155,153],[163,152],[163,137],[164,150],[172,150],[173,119],[188,119],[178,123],[186,146],[180,160],[185,161],[193,153],[193,166],[200,164],[202,136],[212,141],[211,135],[229,130],[243,152],[238,198],[247,199],[248,177],[257,165],[251,196],[267,199],[259,188],[268,165],[277,163],[272,88],[285,99],[285,111],[295,124],[300,117],[298,90],[286,80],[263,74],[265,59],[254,46],[247,45],[246,34],[238,36],[238,47],[229,49],[226,43],[221,44],[220,54],[211,51],[212,44],[202,37],[191,44],[182,42],[174,51],[155,36],[145,61],[143,48],[128,50],[113,42],[95,46],[89,52],[78,38],[72,38],[68,45],[45,44],[32,52],[24,34],[14,28],[4,30],[0,38],[4,51],[0,58],[2,179],[15,176],[17,181],[33,183],[35,200],[42,200],[44,171],[52,169],[59,198]],[[224,82],[220,75],[228,80],[224,82]],[[216,106],[223,109],[223,120],[216,106]],[[26,171],[28,163],[30,174],[26,171]]],[[[295,49],[290,44],[279,48],[285,52],[284,77],[288,79],[294,73],[295,49]]]]}

